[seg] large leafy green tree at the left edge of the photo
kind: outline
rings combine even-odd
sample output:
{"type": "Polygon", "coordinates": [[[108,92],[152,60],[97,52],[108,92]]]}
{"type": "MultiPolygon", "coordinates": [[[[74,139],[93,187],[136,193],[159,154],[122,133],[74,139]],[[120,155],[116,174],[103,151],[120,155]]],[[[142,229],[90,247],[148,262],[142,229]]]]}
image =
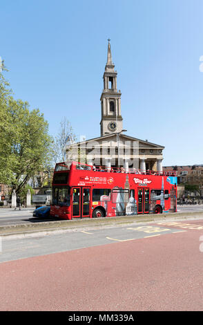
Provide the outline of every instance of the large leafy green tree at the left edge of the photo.
{"type": "MultiPolygon", "coordinates": [[[[21,192],[28,180],[50,165],[52,138],[39,109],[14,100],[0,73],[0,183],[21,192]]],[[[47,168],[46,168],[47,169],[47,168]]]]}

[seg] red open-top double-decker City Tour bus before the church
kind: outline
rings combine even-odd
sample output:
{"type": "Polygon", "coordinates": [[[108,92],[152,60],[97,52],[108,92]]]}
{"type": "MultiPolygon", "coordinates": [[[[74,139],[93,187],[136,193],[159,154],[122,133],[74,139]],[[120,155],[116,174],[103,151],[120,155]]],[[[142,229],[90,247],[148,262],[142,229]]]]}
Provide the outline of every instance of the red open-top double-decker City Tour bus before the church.
{"type": "Polygon", "coordinates": [[[141,172],[73,162],[57,163],[50,214],[62,219],[177,211],[174,171],[141,172]]]}

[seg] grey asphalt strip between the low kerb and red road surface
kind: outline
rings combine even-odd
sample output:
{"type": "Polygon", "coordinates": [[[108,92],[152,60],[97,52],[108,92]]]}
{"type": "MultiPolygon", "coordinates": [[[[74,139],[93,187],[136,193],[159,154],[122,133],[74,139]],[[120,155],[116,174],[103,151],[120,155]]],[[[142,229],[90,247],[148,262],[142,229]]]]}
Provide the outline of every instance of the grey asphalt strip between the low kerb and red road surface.
{"type": "MultiPolygon", "coordinates": [[[[203,228],[202,228],[203,229],[203,228]]],[[[179,229],[170,229],[146,223],[128,224],[126,226],[108,227],[93,230],[78,230],[73,232],[60,232],[59,234],[42,235],[26,238],[1,239],[2,252],[0,262],[24,259],[44,254],[66,252],[98,245],[106,245],[119,241],[131,241],[148,236],[160,236],[171,232],[180,232],[179,229]]]]}

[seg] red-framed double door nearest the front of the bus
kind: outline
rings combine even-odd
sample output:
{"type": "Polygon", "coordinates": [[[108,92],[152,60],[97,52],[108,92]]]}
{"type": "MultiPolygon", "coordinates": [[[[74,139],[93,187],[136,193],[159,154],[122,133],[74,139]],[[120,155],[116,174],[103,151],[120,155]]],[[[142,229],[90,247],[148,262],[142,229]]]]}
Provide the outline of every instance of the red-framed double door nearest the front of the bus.
{"type": "Polygon", "coordinates": [[[90,187],[72,188],[72,217],[90,216],[90,187]]]}

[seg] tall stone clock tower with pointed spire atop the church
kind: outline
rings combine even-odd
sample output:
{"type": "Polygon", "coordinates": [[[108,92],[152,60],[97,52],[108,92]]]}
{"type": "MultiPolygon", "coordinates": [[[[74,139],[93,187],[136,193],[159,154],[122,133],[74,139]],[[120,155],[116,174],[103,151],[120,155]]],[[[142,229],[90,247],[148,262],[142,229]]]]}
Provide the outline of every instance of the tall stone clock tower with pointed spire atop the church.
{"type": "Polygon", "coordinates": [[[117,91],[117,71],[112,62],[110,51],[110,39],[108,39],[107,62],[103,75],[104,89],[101,93],[101,136],[106,133],[122,131],[121,95],[117,91]]]}

